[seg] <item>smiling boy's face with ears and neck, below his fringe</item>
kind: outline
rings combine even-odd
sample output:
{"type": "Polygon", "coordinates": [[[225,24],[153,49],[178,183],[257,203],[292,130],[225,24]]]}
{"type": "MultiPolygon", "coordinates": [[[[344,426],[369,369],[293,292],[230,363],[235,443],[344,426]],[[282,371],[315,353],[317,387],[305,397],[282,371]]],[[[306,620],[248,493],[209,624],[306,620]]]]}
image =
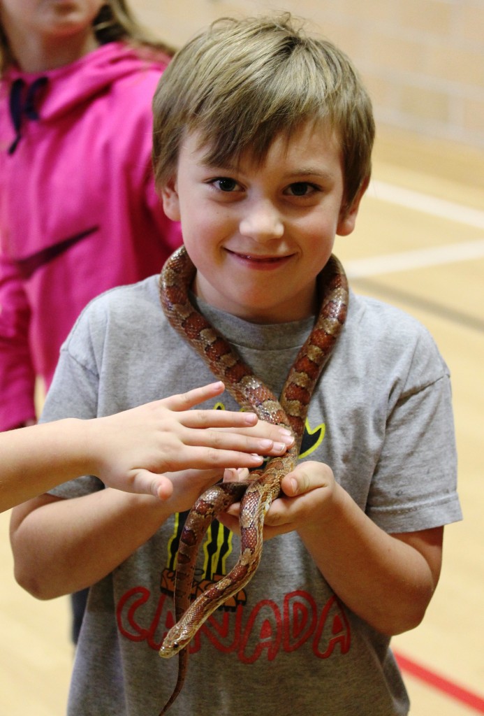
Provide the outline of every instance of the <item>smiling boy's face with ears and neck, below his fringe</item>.
{"type": "Polygon", "coordinates": [[[214,167],[187,135],[177,175],[162,188],[164,210],[182,222],[197,267],[194,292],[207,303],[257,323],[281,323],[317,311],[316,276],[335,234],[355,226],[357,198],[343,213],[340,145],[321,125],[278,137],[257,167],[214,167]]]}

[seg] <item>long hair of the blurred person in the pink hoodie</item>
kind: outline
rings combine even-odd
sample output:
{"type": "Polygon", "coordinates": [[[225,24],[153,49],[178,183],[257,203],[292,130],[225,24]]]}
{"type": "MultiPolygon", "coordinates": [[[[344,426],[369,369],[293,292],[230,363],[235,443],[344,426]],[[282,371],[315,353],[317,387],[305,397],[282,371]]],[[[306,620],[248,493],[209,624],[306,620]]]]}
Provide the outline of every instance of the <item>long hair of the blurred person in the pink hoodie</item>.
{"type": "MultiPolygon", "coordinates": [[[[94,34],[100,45],[124,40],[142,52],[174,54],[174,48],[159,41],[147,32],[134,18],[125,0],[108,0],[93,21],[94,34]]],[[[15,64],[15,57],[9,46],[4,27],[0,21],[0,75],[7,67],[15,64]]]]}

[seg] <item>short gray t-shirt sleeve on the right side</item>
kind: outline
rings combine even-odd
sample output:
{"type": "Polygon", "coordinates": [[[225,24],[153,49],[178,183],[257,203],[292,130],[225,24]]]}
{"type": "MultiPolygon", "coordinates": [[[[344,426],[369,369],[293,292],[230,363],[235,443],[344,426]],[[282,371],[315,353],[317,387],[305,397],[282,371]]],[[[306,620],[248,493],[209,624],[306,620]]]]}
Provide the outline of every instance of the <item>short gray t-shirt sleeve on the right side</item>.
{"type": "Polygon", "coordinates": [[[422,330],[408,369],[390,392],[385,440],[367,514],[387,532],[411,532],[462,518],[450,376],[422,330]]]}

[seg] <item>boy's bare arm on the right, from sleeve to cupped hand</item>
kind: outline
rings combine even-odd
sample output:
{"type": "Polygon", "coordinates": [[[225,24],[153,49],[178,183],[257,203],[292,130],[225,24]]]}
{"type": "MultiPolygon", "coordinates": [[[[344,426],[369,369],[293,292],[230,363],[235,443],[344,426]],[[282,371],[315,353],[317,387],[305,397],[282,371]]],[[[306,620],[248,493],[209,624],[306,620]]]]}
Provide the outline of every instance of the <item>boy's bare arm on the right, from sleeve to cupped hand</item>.
{"type": "MultiPolygon", "coordinates": [[[[440,576],[443,528],[390,535],[368,518],[322,463],[301,463],[265,518],[265,539],[297,531],[335,594],[379,632],[420,624],[440,576]]],[[[221,516],[237,531],[238,505],[221,516]]]]}

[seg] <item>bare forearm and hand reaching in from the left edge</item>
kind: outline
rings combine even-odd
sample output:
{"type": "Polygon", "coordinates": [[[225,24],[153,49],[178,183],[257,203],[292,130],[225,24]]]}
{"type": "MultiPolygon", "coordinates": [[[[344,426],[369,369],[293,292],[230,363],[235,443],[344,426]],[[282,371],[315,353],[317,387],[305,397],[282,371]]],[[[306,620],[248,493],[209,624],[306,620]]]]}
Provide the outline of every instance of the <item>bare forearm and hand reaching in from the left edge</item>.
{"type": "Polygon", "coordinates": [[[161,473],[257,467],[285,450],[287,436],[253,413],[190,410],[223,390],[217,382],[109,417],[0,433],[0,511],[79,475],[165,499],[172,481],[161,473]]]}

